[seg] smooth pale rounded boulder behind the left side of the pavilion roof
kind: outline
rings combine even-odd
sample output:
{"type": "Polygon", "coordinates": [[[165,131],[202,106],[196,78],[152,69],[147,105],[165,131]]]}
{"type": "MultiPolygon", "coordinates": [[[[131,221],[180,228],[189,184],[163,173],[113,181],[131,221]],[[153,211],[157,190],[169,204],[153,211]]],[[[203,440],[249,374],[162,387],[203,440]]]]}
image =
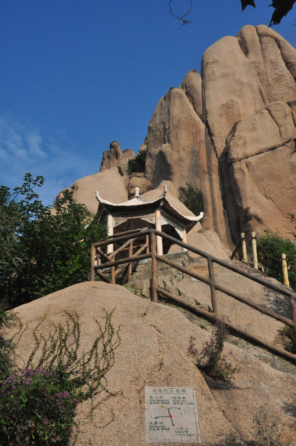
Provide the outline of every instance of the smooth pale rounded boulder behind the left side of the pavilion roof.
{"type": "MultiPolygon", "coordinates": [[[[62,190],[57,198],[61,198],[65,190],[62,190]]],[[[128,199],[125,184],[117,167],[80,178],[67,190],[73,192],[74,202],[85,204],[89,212],[93,214],[97,213],[98,208],[96,190],[102,198],[114,203],[122,203],[128,199]]]]}

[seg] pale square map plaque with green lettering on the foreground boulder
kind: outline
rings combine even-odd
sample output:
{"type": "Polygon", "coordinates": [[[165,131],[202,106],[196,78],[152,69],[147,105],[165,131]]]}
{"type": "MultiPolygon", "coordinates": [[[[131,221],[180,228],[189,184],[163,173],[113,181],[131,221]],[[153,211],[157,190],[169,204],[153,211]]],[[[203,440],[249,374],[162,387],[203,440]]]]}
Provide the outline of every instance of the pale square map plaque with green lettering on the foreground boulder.
{"type": "Polygon", "coordinates": [[[193,387],[145,387],[146,442],[201,443],[193,387]]]}

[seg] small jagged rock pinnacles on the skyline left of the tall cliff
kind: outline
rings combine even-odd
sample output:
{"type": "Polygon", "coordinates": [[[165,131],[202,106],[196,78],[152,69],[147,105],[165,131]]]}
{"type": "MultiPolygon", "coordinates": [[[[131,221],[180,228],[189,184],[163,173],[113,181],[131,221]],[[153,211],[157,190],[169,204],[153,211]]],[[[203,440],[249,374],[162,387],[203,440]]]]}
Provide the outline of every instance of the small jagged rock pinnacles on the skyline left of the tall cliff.
{"type": "Polygon", "coordinates": [[[122,176],[126,175],[128,162],[135,157],[136,155],[133,150],[126,149],[122,152],[119,142],[113,141],[110,143],[110,150],[104,150],[103,152],[100,172],[110,169],[111,167],[117,167],[122,176]]]}

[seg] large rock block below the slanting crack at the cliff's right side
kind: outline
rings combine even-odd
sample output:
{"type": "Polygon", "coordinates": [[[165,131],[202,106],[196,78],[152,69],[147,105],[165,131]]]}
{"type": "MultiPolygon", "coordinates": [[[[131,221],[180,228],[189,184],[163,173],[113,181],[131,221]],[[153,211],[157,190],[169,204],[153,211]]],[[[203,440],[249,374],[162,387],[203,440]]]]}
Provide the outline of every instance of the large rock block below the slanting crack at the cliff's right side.
{"type": "Polygon", "coordinates": [[[294,141],[267,153],[234,162],[231,185],[240,226],[261,235],[292,231],[287,219],[296,208],[296,151],[294,141]]]}

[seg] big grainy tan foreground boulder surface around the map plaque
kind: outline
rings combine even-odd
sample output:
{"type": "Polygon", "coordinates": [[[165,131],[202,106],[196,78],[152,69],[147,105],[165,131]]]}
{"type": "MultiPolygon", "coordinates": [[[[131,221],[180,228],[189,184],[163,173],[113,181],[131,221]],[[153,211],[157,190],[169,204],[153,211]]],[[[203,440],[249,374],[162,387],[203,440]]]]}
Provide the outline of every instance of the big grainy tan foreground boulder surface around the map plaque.
{"type": "Polygon", "coordinates": [[[240,367],[235,380],[229,384],[209,379],[206,382],[187,356],[187,347],[193,335],[201,349],[210,333],[191,323],[179,310],[138,298],[119,285],[86,282],[18,307],[20,319],[28,323],[18,353],[27,359],[34,343],[32,330],[37,323],[47,315],[37,335],[48,333],[52,322],[65,323],[65,311],[79,314],[81,351],[88,349],[97,332],[93,318],[104,321],[101,307],[107,310],[115,307],[112,322],[115,328],[121,325],[121,344],[115,351],[115,364],[106,376],[108,389],[116,395],[95,396],[93,402],[98,406],[92,420],[90,404],[78,406],[77,416],[86,421],[81,425],[78,446],[148,445],[144,389],[151,384],[195,388],[205,446],[251,444],[258,439],[261,428],[270,429],[273,423],[273,434],[283,429],[281,442],[292,444],[296,435],[294,376],[227,344],[227,357],[231,356],[231,362],[240,367]],[[99,428],[108,421],[109,425],[99,428]]]}

